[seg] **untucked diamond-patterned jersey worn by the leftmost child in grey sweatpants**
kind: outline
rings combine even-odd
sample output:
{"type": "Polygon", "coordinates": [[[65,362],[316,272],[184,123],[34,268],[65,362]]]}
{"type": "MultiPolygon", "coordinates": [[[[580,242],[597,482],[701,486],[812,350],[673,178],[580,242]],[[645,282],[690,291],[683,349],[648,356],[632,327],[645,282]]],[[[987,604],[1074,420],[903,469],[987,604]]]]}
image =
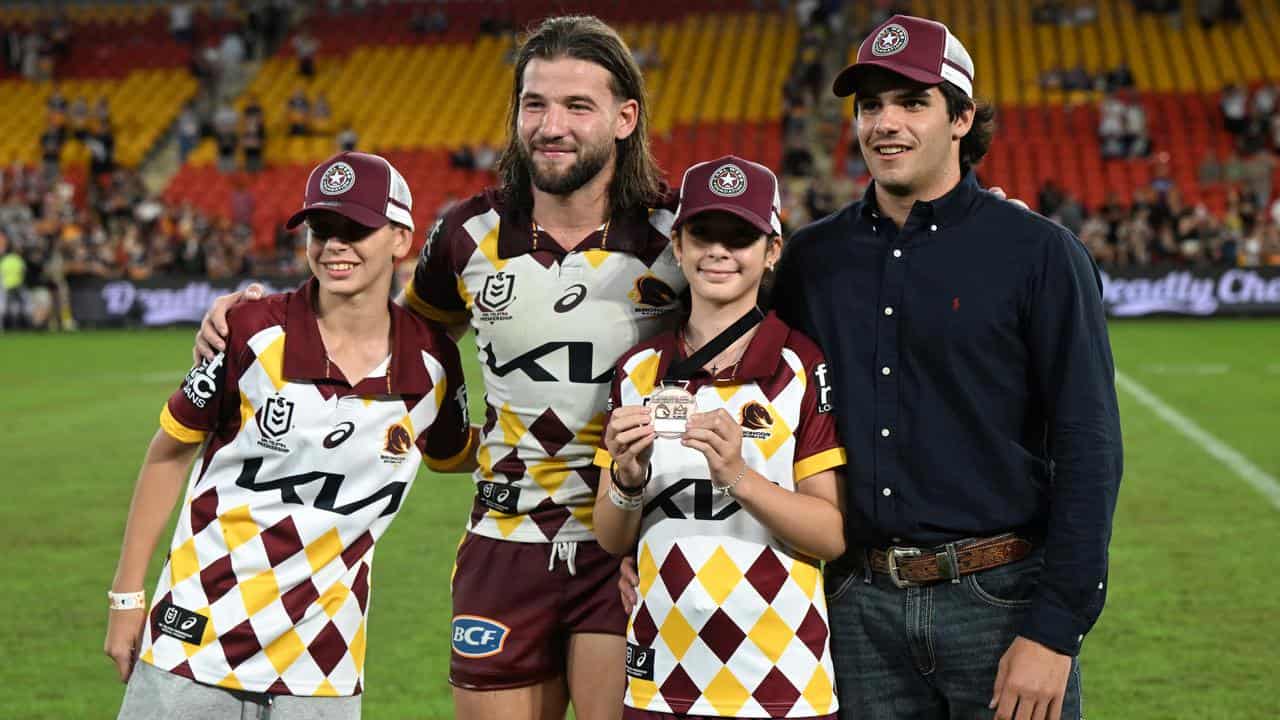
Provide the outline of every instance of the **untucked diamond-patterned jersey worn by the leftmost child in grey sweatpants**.
{"type": "Polygon", "coordinates": [[[204,442],[160,573],[141,660],[200,683],[360,693],[374,543],[420,461],[470,447],[457,347],[392,305],[392,354],[352,387],[328,360],[315,281],[237,306],[227,351],[160,414],[204,442]]]}

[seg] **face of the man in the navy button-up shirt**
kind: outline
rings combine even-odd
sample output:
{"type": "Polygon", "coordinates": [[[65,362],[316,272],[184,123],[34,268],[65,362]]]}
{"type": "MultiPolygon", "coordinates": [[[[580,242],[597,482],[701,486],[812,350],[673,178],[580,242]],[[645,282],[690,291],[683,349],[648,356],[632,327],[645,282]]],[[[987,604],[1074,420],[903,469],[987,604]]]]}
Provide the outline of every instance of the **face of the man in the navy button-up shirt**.
{"type": "Polygon", "coordinates": [[[915,200],[934,200],[960,182],[960,138],[973,109],[954,120],[937,86],[896,73],[868,73],[858,88],[858,142],[878,188],[915,200]]]}

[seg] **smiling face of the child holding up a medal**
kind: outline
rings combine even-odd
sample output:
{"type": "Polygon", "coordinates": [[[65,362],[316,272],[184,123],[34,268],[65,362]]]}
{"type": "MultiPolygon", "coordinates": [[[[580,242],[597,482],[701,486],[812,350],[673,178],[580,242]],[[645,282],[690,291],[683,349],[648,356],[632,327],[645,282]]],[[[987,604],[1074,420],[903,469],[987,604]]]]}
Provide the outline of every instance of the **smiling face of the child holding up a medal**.
{"type": "Polygon", "coordinates": [[[721,210],[690,218],[673,240],[694,302],[716,306],[754,305],[765,268],[782,252],[782,238],[721,210]]]}

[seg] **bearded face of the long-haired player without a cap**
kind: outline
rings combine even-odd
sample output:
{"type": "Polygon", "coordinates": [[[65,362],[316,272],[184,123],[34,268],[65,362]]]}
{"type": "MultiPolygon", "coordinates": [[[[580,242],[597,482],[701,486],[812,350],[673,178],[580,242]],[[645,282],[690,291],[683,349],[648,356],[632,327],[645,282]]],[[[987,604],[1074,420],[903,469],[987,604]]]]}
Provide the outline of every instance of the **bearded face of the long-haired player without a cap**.
{"type": "Polygon", "coordinates": [[[612,177],[616,141],[635,131],[639,105],[618,101],[609,81],[607,69],[575,58],[525,67],[516,127],[534,187],[564,196],[602,172],[612,177]]]}

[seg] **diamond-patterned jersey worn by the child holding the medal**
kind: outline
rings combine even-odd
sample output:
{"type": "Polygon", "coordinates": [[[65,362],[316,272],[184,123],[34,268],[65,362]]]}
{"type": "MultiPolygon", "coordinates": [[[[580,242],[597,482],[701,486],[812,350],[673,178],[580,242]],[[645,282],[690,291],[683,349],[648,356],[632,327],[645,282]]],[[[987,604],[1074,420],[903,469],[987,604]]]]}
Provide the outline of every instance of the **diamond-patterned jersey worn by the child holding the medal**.
{"type": "MultiPolygon", "coordinates": [[[[681,359],[675,333],[627,352],[612,406],[644,404],[681,359]]],[[[699,413],[724,409],[739,420],[748,466],[783,489],[845,464],[822,352],[773,314],[736,369],[701,372],[687,389],[699,413]]],[[[627,625],[626,705],[681,716],[835,712],[817,560],[714,492],[700,452],[655,442],[637,548],[640,601],[627,625]]],[[[602,448],[596,464],[609,460],[602,448]]]]}

